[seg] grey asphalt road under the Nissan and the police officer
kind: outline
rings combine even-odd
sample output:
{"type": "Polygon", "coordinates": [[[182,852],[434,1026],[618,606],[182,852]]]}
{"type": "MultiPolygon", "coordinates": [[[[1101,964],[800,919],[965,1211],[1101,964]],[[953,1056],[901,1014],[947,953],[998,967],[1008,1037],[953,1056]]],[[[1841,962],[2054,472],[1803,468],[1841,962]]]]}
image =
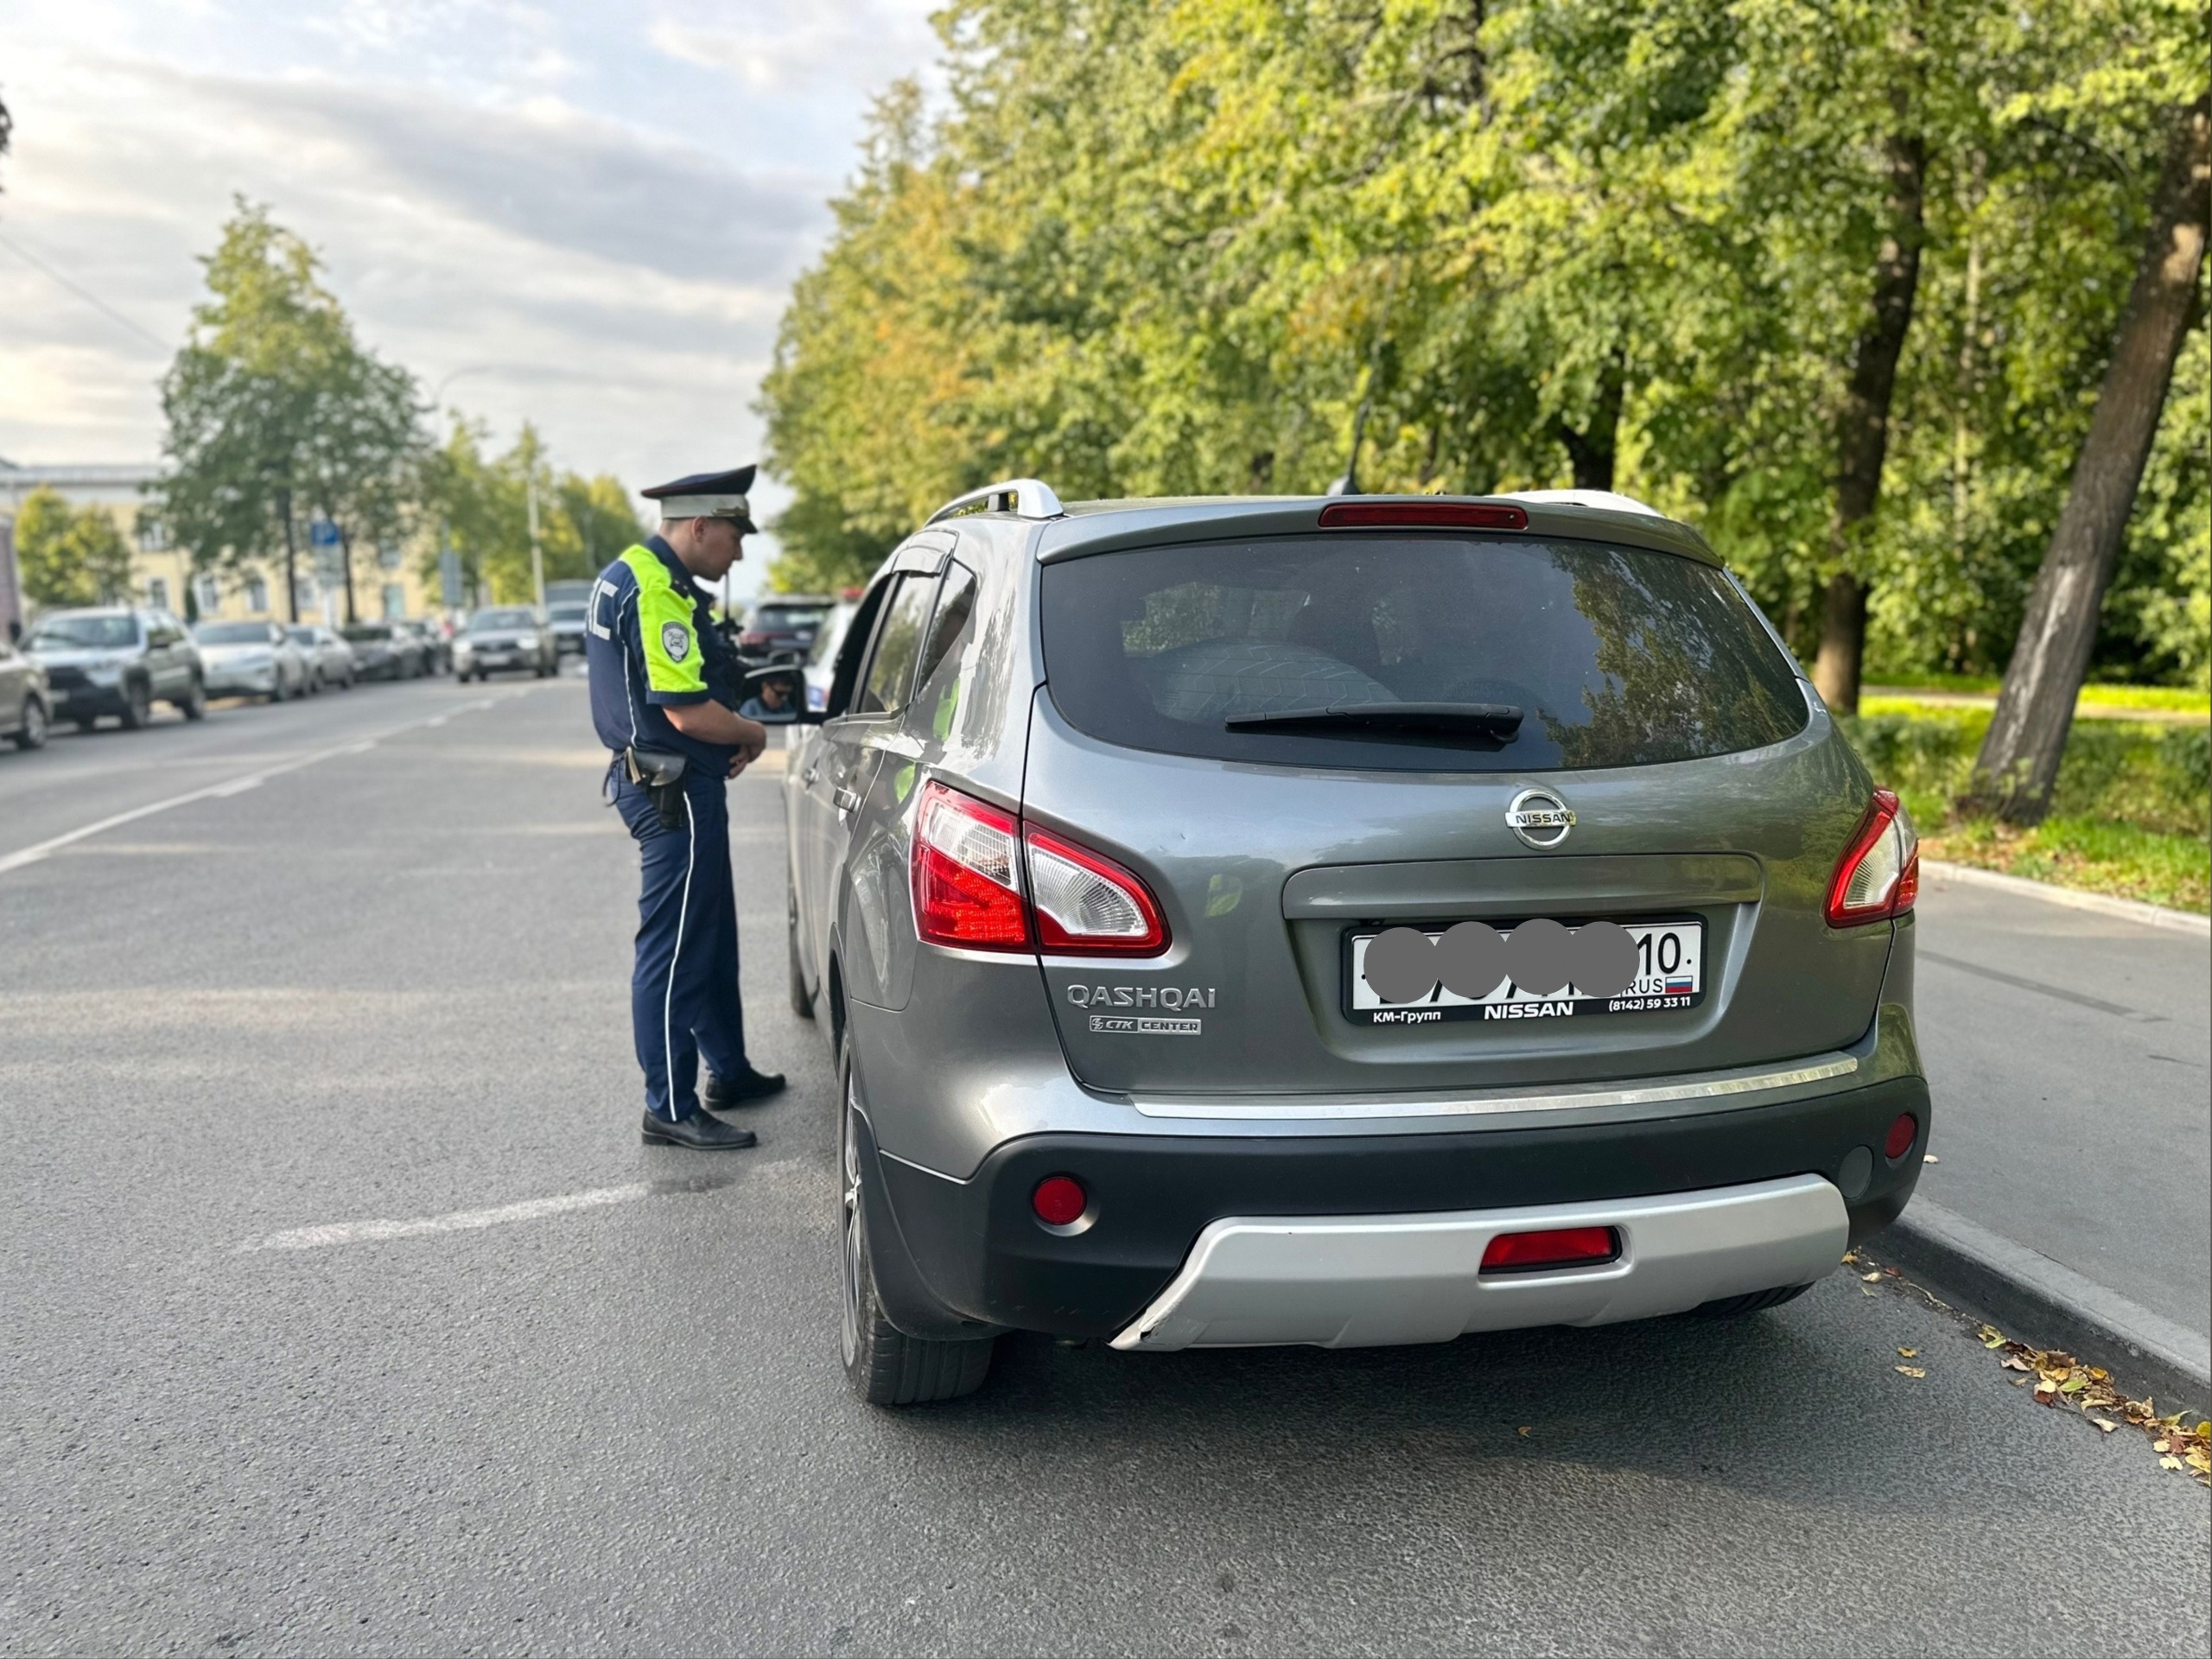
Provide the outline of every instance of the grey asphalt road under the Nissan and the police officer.
{"type": "Polygon", "coordinates": [[[575,681],[0,757],[0,1650],[2212,1641],[2205,1493],[1849,1274],[1427,1349],[1013,1338],[973,1400],[852,1402],[774,792],[732,816],[794,1088],[701,1159],[637,1141],[599,765],[575,681]]]}

